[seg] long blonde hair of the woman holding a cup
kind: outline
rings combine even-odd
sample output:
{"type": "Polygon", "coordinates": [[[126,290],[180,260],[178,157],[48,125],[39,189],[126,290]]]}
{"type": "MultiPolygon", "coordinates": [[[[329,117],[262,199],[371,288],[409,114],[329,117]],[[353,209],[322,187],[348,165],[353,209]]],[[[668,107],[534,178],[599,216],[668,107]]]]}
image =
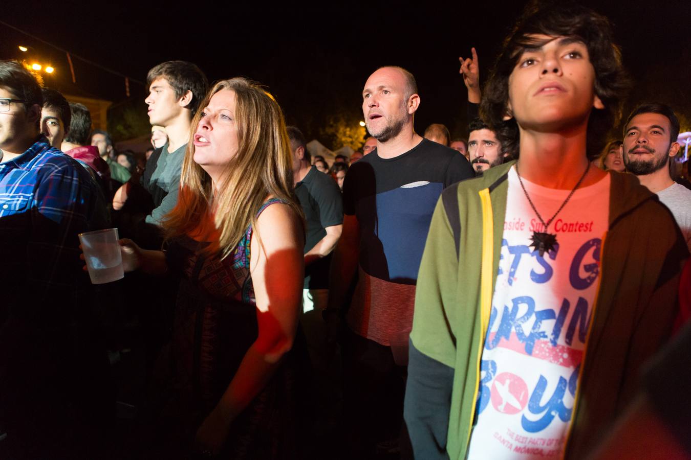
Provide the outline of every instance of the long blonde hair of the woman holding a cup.
{"type": "MultiPolygon", "coordinates": [[[[166,238],[187,235],[209,242],[209,252],[227,257],[249,225],[256,227],[256,213],[267,197],[285,201],[299,216],[302,208],[293,192],[292,154],[281,108],[271,94],[244,78],[218,81],[201,102],[221,90],[236,95],[238,152],[229,161],[216,191],[211,177],[195,163],[193,136],[182,163],[178,203],[163,221],[166,238]]],[[[193,131],[203,110],[192,120],[193,131]]]]}

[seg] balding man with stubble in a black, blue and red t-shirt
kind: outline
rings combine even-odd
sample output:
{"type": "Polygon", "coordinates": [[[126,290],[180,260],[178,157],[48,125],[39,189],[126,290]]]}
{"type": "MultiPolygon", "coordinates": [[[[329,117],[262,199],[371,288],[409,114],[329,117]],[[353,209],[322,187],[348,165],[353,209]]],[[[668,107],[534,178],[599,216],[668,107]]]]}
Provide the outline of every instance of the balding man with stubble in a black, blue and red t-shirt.
{"type": "Polygon", "coordinates": [[[375,443],[399,434],[404,388],[392,341],[407,334],[413,320],[417,268],[434,204],[445,187],[473,177],[470,163],[455,150],[415,133],[420,97],[410,72],[379,68],[362,98],[377,148],[345,176],[343,234],[334,250],[325,312],[333,326],[339,308],[349,307],[346,423],[350,446],[361,448],[350,452],[352,458],[368,458],[375,443]],[[356,272],[352,302],[343,305],[356,272]]]}

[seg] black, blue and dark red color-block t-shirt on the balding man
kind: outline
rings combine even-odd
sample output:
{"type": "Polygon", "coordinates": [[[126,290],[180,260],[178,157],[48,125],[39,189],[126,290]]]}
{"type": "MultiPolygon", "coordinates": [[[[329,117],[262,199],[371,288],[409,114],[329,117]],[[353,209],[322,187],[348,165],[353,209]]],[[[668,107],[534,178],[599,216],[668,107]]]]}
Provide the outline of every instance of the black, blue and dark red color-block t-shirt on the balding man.
{"type": "Polygon", "coordinates": [[[392,159],[377,150],[354,163],[343,183],[343,212],[360,226],[359,278],[348,325],[390,345],[413,324],[415,282],[437,199],[452,183],[474,176],[470,163],[423,139],[392,159]]]}

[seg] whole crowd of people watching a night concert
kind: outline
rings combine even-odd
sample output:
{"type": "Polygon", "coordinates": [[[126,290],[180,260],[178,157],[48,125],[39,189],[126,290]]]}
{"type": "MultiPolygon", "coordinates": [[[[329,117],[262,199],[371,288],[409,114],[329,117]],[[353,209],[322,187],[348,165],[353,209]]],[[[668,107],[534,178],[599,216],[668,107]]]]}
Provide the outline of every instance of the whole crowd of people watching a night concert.
{"type": "Polygon", "coordinates": [[[460,74],[466,139],[417,134],[384,66],[329,165],[244,78],[151,68],[140,155],[0,61],[0,458],[689,458],[674,111],[608,138],[629,80],[570,3],[528,7],[482,90],[475,48],[460,74]],[[106,228],[126,276],[91,284],[106,228]]]}

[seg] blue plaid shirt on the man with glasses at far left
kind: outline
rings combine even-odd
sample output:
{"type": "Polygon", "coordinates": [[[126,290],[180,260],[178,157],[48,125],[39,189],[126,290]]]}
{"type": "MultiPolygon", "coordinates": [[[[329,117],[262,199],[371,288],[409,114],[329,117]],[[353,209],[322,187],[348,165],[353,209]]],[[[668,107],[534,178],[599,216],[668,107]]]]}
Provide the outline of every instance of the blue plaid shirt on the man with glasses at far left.
{"type": "Polygon", "coordinates": [[[10,306],[75,295],[85,276],[77,235],[105,224],[98,193],[88,172],[44,136],[0,163],[0,279],[10,306]]]}

